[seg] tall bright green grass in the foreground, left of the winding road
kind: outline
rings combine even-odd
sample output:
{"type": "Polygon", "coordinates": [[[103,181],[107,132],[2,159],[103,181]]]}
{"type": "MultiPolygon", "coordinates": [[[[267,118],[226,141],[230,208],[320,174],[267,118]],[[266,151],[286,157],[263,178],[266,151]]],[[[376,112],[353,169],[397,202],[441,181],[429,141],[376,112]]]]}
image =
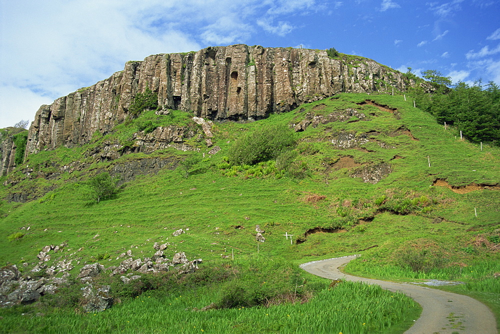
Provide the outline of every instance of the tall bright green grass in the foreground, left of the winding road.
{"type": "Polygon", "coordinates": [[[101,313],[75,315],[64,310],[51,315],[20,315],[1,310],[5,332],[60,333],[383,333],[401,322],[412,322],[416,303],[378,286],[344,282],[323,289],[304,304],[269,308],[234,308],[193,312],[209,305],[221,292],[158,296],[144,293],[101,313]],[[409,315],[407,311],[411,311],[409,315]]]}

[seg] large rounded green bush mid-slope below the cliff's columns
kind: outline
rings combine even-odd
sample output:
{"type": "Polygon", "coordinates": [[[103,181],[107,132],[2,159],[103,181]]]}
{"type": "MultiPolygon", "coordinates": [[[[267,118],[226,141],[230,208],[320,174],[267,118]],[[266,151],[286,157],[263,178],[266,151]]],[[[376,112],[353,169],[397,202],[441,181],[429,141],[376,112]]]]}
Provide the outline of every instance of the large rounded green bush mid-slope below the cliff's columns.
{"type": "Polygon", "coordinates": [[[237,139],[227,157],[234,164],[253,165],[277,157],[295,145],[294,132],[285,125],[267,125],[237,139]]]}

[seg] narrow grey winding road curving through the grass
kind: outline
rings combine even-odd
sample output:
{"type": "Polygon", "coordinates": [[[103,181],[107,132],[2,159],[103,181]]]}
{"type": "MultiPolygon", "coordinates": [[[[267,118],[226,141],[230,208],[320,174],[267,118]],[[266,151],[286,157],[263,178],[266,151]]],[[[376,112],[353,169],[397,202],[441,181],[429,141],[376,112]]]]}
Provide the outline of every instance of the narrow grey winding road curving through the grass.
{"type": "Polygon", "coordinates": [[[489,309],[473,298],[412,284],[394,283],[346,275],[339,267],[355,259],[355,255],[309,262],[300,267],[330,280],[377,284],[385,290],[400,292],[422,307],[422,314],[405,334],[496,334],[496,322],[489,309]]]}

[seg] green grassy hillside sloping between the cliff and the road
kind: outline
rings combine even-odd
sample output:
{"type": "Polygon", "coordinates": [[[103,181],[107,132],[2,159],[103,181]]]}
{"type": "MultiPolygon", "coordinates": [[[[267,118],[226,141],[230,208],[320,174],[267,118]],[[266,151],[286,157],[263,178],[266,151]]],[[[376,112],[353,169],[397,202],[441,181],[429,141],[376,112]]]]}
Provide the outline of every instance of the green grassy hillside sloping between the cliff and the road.
{"type": "MultiPolygon", "coordinates": [[[[131,135],[127,131],[118,127],[95,142],[125,138],[131,135]]],[[[27,262],[27,272],[43,246],[62,242],[68,246],[61,256],[76,266],[72,273],[97,260],[118,265],[117,256],[127,250],[151,256],[155,242],[168,242],[165,252],[171,255],[202,258],[200,266],[207,268],[252,256],[298,264],[361,254],[346,271],[384,279],[460,280],[469,283],[464,291],[488,290],[494,293],[484,297],[490,301],[500,296],[492,276],[500,272],[494,247],[500,243],[500,149],[484,145],[481,151],[403,96],[389,95],[339,94],[265,120],[216,123],[212,131],[218,153],[209,156],[198,143],[193,145],[200,152],[157,151],[152,156],[172,158],[171,168],[125,183],[116,196],[99,203],[86,199],[84,180],[112,162],[92,162],[53,181],[21,180],[19,174],[19,189],[56,189],[24,204],[1,203],[0,264],[24,268],[27,262]],[[308,125],[294,134],[297,145],[288,156],[254,166],[228,163],[227,152],[243,133],[298,124],[313,115],[325,119],[348,108],[364,117],[308,125]],[[190,155],[200,162],[185,178],[174,167],[190,155]],[[377,183],[363,182],[378,175],[383,176],[377,183]],[[265,231],[264,243],[255,240],[255,225],[265,231]],[[173,237],[180,228],[186,233],[173,237]],[[24,236],[9,241],[18,232],[24,236]],[[293,235],[291,243],[285,233],[293,235]],[[479,287],[481,282],[486,288],[479,287]]],[[[50,168],[42,163],[47,157],[84,160],[88,149],[40,152],[27,164],[50,168]]]]}

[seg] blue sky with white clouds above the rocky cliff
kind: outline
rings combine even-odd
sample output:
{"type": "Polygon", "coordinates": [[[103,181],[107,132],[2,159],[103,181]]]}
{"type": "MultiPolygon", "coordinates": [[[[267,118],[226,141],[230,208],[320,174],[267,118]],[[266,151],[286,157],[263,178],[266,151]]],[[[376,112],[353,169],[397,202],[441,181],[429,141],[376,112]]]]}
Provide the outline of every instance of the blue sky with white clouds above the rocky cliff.
{"type": "Polygon", "coordinates": [[[500,85],[498,0],[1,0],[0,128],[128,60],[237,43],[500,85]]]}

